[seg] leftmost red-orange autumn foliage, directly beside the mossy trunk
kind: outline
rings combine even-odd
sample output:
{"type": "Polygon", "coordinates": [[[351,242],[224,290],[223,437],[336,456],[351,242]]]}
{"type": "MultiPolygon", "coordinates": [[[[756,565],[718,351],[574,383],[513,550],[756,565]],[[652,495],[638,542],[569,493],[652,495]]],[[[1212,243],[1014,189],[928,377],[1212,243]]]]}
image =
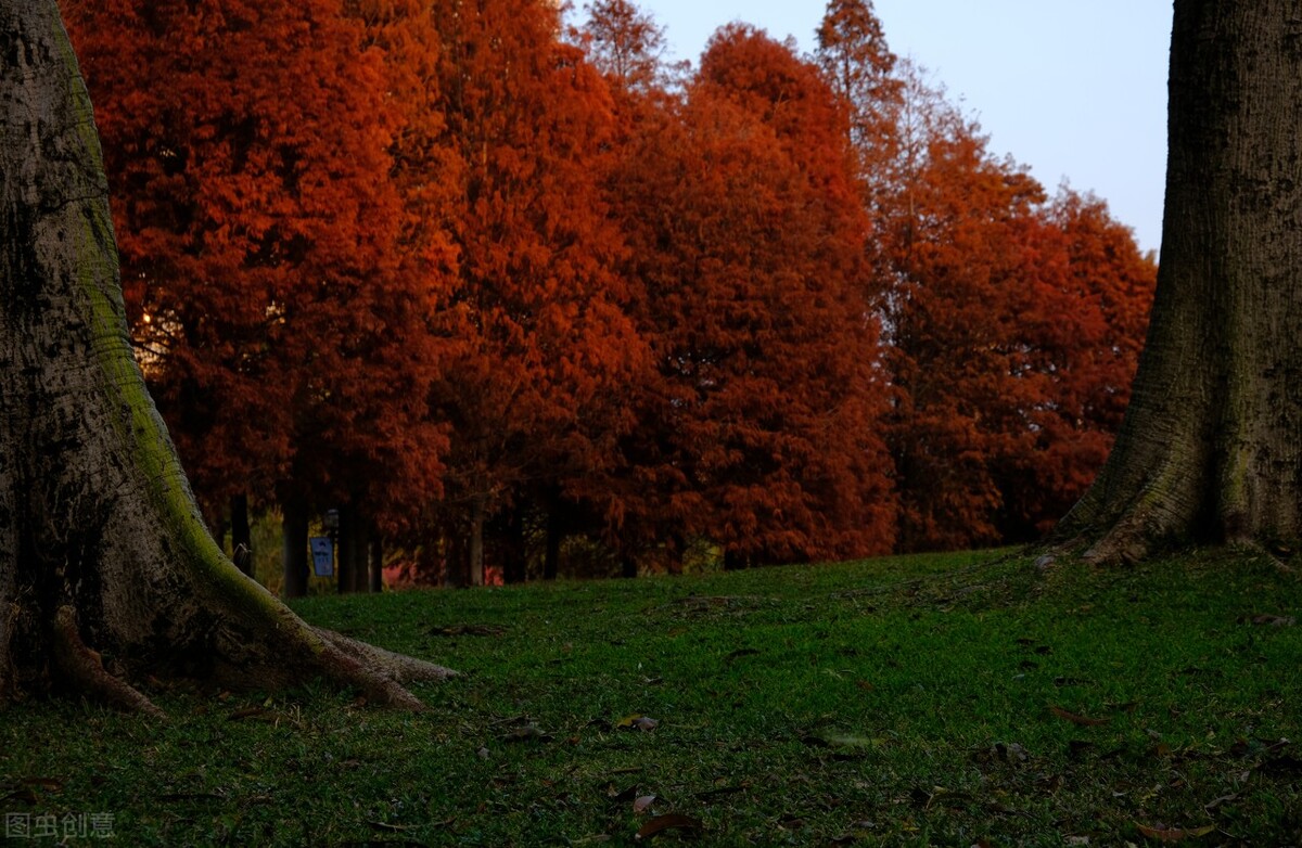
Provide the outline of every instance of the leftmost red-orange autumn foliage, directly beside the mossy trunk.
{"type": "Polygon", "coordinates": [[[391,178],[411,122],[362,22],[339,0],[68,7],[137,341],[203,499],[279,501],[301,536],[312,509],[365,503],[359,528],[436,488],[411,260],[437,248],[398,250],[419,241],[391,178]]]}

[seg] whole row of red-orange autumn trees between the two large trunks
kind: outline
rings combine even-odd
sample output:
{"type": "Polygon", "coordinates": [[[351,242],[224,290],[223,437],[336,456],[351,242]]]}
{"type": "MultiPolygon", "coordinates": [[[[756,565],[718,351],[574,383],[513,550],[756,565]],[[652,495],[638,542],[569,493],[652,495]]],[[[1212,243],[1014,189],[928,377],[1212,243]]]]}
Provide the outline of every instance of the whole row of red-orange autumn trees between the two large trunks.
{"type": "Polygon", "coordinates": [[[60,5],[150,390],[289,594],[329,507],[344,590],[384,546],[460,585],[1030,540],[1120,427],[1155,258],[870,0],[697,66],[628,0],[60,5]]]}

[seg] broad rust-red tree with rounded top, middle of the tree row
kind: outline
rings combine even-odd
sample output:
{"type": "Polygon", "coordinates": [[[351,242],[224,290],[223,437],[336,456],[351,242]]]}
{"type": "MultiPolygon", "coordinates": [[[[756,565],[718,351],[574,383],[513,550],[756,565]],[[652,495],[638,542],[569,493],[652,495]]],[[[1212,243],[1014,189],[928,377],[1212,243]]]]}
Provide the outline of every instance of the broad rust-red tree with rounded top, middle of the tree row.
{"type": "Polygon", "coordinates": [[[656,373],[608,489],[625,545],[699,536],[730,564],[889,548],[844,121],[816,69],[733,26],[626,152],[616,185],[656,373]]]}

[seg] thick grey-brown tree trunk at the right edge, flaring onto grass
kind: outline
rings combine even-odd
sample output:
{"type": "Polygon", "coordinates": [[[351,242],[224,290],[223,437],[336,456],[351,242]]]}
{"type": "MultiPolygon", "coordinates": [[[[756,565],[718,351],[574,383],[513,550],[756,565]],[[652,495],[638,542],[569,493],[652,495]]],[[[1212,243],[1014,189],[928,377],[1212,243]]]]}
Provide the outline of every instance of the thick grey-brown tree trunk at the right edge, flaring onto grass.
{"type": "Polygon", "coordinates": [[[1302,537],[1302,25],[1176,0],[1161,267],[1116,446],[1057,541],[1095,561],[1302,537]]]}

